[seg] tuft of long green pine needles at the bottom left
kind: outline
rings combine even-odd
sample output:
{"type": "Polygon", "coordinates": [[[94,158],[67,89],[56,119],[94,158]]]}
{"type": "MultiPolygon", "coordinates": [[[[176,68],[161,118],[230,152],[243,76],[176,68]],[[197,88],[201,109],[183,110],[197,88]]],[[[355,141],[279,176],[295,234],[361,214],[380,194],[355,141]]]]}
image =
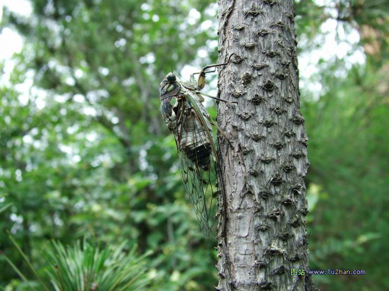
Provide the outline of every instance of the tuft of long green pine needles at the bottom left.
{"type": "Polygon", "coordinates": [[[144,257],[135,255],[135,247],[124,253],[125,244],[100,249],[86,241],[67,248],[53,242],[46,257],[55,290],[143,290],[149,281],[144,257]]]}

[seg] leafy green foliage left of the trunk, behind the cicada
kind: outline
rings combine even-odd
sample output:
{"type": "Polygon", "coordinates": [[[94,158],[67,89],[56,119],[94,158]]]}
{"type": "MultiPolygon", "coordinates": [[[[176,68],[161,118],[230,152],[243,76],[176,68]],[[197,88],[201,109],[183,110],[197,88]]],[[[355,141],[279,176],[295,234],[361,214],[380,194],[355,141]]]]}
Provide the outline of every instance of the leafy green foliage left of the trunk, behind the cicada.
{"type": "MultiPolygon", "coordinates": [[[[0,86],[0,231],[11,230],[39,271],[47,239],[129,240],[140,253],[154,251],[146,260],[156,290],[216,285],[215,240],[202,235],[184,195],[158,97],[170,65],[179,71],[200,48],[208,57],[199,67],[215,62],[216,32],[202,28],[215,5],[32,5],[29,19],[3,13],[2,25],[26,37],[9,82],[33,86],[24,95],[18,86],[0,86]]],[[[6,238],[0,246],[31,277],[6,238]]],[[[15,277],[4,263],[1,284],[15,277]]]]}

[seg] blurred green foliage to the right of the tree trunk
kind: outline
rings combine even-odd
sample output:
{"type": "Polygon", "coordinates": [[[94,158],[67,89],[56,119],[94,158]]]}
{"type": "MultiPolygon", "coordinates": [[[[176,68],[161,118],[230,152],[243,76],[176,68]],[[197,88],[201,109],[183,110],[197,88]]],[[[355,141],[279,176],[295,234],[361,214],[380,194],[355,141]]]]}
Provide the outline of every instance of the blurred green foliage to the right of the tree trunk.
{"type": "MultiPolygon", "coordinates": [[[[389,288],[380,267],[389,259],[385,251],[389,217],[383,206],[389,189],[387,4],[329,1],[337,31],[359,32],[361,39],[354,49],[363,47],[366,61],[350,65],[347,56],[329,61],[323,56],[317,64],[319,74],[308,80],[323,86],[319,96],[302,88],[301,112],[311,163],[306,179],[311,204],[307,216],[310,267],[360,269],[368,274],[317,276],[315,283],[321,290],[389,288]]],[[[306,34],[301,37],[301,50],[309,51],[304,47],[310,45],[306,34]]],[[[312,43],[319,47],[321,42],[316,38],[312,43]]]]}

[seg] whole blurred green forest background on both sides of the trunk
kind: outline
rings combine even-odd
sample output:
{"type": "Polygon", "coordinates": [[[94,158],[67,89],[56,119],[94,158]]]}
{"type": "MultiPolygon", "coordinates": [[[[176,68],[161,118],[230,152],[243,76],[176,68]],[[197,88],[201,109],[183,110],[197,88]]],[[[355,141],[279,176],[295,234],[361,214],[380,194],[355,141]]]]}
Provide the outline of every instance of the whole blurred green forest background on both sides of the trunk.
{"type": "MultiPolygon", "coordinates": [[[[52,239],[127,241],[152,251],[148,290],[216,286],[217,242],[185,197],[159,82],[171,66],[188,79],[217,63],[217,3],[2,6],[1,251],[36,280],[9,230],[47,280],[42,253],[52,239]]],[[[295,9],[310,268],[366,270],[314,281],[321,290],[388,290],[389,1],[295,0],[295,9]]],[[[215,95],[213,78],[204,90],[215,95]]],[[[29,290],[1,256],[0,270],[7,291],[29,290]]]]}

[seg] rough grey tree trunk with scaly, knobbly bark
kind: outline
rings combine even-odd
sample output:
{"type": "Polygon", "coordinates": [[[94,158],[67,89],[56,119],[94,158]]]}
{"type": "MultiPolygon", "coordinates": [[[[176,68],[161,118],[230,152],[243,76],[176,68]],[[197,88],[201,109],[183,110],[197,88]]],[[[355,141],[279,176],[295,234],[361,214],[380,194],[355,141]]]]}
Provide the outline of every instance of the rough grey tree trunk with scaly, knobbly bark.
{"type": "Polygon", "coordinates": [[[219,290],[315,290],[307,274],[307,136],[299,111],[293,0],[218,0],[217,121],[227,192],[219,290]],[[292,276],[291,268],[305,270],[292,276]]]}

